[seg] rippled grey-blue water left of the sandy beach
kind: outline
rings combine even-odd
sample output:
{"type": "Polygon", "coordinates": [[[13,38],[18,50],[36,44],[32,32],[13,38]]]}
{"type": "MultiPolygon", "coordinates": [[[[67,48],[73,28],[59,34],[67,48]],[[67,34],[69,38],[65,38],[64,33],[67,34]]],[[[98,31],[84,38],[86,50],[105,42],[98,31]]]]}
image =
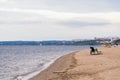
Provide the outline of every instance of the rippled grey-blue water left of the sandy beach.
{"type": "Polygon", "coordinates": [[[89,46],[0,46],[0,80],[41,70],[56,58],[89,46]]]}

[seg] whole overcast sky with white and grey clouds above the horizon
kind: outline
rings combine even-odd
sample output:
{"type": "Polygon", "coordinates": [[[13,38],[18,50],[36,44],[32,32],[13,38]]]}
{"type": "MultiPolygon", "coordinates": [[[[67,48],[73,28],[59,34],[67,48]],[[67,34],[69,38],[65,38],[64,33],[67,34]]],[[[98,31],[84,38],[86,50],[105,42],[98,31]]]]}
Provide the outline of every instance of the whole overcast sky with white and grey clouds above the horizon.
{"type": "Polygon", "coordinates": [[[0,0],[0,41],[120,37],[120,0],[0,0]]]}

